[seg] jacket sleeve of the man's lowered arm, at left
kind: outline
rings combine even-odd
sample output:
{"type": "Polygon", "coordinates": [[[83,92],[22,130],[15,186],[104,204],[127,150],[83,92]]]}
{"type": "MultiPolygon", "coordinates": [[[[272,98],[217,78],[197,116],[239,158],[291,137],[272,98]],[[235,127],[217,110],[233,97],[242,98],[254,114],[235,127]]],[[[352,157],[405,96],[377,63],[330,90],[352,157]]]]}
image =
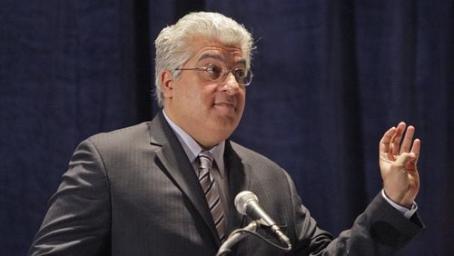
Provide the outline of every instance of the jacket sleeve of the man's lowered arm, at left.
{"type": "Polygon", "coordinates": [[[100,255],[108,251],[110,209],[103,160],[86,140],[76,148],[27,255],[100,255]]]}

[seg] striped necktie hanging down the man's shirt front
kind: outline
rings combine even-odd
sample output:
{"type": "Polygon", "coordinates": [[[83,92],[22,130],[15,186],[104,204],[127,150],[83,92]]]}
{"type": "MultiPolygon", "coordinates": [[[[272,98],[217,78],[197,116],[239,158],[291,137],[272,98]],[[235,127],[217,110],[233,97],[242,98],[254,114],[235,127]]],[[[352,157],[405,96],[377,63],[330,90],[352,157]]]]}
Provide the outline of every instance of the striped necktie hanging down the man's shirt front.
{"type": "Polygon", "coordinates": [[[224,212],[222,210],[221,200],[219,197],[218,188],[210,169],[212,168],[212,153],[204,151],[199,154],[199,182],[202,186],[203,192],[205,192],[206,201],[208,207],[212,212],[212,220],[216,225],[219,238],[221,241],[224,239],[225,227],[224,227],[224,212]]]}

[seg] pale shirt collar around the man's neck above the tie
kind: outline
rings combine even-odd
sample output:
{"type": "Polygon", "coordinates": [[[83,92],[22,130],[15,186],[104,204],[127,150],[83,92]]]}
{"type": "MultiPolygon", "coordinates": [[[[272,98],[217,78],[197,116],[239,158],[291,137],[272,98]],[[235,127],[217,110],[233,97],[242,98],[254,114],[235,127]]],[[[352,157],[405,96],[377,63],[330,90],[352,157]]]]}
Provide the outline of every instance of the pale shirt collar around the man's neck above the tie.
{"type": "MultiPolygon", "coordinates": [[[[191,135],[188,133],[184,132],[180,126],[178,126],[176,123],[173,123],[173,121],[170,119],[169,116],[165,113],[165,109],[163,109],[163,115],[165,120],[169,123],[169,125],[172,127],[173,132],[176,133],[176,136],[178,138],[178,141],[183,146],[184,152],[189,158],[189,161],[194,162],[199,153],[203,151],[202,147],[197,143],[191,135]]],[[[222,141],[222,143],[217,144],[216,146],[212,147],[210,149],[210,153],[212,153],[214,157],[214,161],[216,162],[219,172],[221,173],[221,176],[223,177],[224,173],[224,149],[225,149],[225,141],[222,141]]]]}

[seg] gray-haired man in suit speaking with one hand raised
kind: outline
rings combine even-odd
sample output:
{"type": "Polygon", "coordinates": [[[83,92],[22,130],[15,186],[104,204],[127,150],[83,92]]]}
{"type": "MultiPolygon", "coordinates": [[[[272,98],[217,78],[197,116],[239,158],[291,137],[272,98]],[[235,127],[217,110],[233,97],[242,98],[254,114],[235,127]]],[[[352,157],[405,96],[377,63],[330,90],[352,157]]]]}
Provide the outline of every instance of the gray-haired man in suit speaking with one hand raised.
{"type": "MultiPolygon", "coordinates": [[[[415,237],[423,224],[412,126],[384,134],[384,189],[337,239],[317,227],[281,167],[229,140],[252,80],[252,42],[242,25],[214,13],[164,28],[155,41],[163,111],[77,147],[29,254],[214,255],[251,222],[233,206],[242,191],[254,192],[289,237],[287,255],[390,255],[415,237]]],[[[247,237],[232,254],[285,252],[247,237]]]]}

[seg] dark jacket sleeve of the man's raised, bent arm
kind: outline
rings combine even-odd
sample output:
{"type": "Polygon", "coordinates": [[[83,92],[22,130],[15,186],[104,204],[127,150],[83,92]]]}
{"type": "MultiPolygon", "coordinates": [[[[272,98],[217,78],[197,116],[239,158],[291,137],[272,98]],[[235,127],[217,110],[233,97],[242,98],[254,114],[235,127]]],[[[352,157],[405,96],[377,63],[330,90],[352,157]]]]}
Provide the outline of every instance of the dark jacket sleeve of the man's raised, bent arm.
{"type": "Polygon", "coordinates": [[[408,220],[379,193],[350,230],[333,238],[317,226],[294,188],[291,191],[297,240],[294,255],[395,255],[424,228],[418,213],[408,220]]]}

